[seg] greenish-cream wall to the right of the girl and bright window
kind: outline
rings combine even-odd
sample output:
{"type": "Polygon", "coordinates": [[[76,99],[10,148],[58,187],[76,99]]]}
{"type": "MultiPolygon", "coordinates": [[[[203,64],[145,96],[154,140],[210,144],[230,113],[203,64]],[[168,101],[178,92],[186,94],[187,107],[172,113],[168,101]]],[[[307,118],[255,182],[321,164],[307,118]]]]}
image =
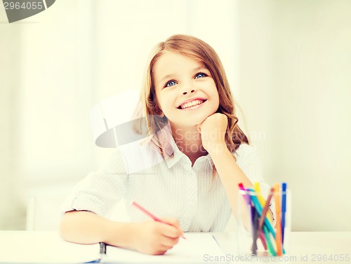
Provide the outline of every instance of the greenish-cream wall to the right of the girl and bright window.
{"type": "Polygon", "coordinates": [[[293,230],[350,229],[351,1],[239,1],[240,98],[293,230]]]}

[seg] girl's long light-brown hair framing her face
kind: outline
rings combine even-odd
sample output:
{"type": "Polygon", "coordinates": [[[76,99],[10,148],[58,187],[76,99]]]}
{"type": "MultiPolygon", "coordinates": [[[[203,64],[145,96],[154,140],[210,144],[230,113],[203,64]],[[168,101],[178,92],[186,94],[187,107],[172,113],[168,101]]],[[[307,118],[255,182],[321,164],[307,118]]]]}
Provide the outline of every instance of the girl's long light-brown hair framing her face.
{"type": "MultiPolygon", "coordinates": [[[[153,67],[164,51],[171,51],[192,57],[205,65],[211,72],[213,81],[216,83],[219,96],[219,107],[217,113],[223,113],[227,116],[227,132],[225,134],[225,143],[230,152],[239,148],[241,143],[249,144],[249,140],[237,125],[238,118],[236,116],[234,99],[227,81],[227,76],[220,59],[213,48],[201,39],[194,36],[174,35],[166,39],[166,41],[157,44],[150,54],[147,62],[147,69],[143,80],[143,87],[140,93],[140,102],[136,111],[136,118],[140,120],[142,116],[146,118],[147,134],[152,136],[150,144],[157,148],[164,158],[173,157],[173,148],[169,142],[170,130],[166,129],[168,119],[159,116],[161,109],[157,102],[156,92],[154,88],[153,67]]],[[[142,132],[143,129],[136,124],[137,131],[142,132]]]]}

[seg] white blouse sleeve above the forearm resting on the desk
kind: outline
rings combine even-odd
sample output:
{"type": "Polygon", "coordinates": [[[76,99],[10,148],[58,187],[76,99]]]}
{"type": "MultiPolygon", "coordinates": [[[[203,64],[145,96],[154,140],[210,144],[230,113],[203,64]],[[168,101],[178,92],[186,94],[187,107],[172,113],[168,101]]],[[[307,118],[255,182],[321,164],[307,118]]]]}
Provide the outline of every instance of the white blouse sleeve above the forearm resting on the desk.
{"type": "Polygon", "coordinates": [[[126,172],[118,152],[112,155],[107,166],[98,172],[91,172],[74,187],[60,209],[66,211],[91,211],[106,216],[125,193],[126,172]]]}

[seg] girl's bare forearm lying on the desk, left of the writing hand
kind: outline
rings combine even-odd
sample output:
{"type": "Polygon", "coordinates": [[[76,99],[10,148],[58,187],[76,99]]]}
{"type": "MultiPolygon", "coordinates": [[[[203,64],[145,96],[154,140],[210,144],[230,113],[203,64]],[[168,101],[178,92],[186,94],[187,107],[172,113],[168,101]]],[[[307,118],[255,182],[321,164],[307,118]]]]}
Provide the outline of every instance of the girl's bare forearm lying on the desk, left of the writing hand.
{"type": "Polygon", "coordinates": [[[69,211],[60,222],[60,236],[79,244],[105,242],[113,246],[130,247],[133,223],[110,221],[89,211],[69,211]]]}

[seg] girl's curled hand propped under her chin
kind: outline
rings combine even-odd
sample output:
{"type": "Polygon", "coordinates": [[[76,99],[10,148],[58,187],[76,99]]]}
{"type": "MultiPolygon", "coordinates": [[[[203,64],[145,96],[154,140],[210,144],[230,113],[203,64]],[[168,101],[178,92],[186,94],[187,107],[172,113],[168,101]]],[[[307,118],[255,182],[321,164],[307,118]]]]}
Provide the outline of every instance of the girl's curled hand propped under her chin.
{"type": "Polygon", "coordinates": [[[197,130],[201,133],[202,146],[208,153],[219,153],[225,151],[225,132],[227,131],[227,116],[223,113],[213,113],[201,124],[197,125],[197,130]]]}

